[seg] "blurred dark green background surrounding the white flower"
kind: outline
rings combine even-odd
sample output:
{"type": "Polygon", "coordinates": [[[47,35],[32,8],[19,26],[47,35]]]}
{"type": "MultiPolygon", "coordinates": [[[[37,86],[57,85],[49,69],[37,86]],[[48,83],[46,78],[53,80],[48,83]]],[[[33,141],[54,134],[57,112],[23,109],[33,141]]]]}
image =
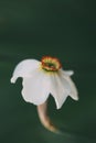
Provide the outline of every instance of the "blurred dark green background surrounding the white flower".
{"type": "Polygon", "coordinates": [[[95,0],[0,1],[0,143],[96,143],[95,0]],[[61,110],[52,97],[49,112],[64,134],[45,130],[36,107],[21,96],[21,79],[10,84],[24,58],[56,56],[74,69],[79,100],[61,110]]]}

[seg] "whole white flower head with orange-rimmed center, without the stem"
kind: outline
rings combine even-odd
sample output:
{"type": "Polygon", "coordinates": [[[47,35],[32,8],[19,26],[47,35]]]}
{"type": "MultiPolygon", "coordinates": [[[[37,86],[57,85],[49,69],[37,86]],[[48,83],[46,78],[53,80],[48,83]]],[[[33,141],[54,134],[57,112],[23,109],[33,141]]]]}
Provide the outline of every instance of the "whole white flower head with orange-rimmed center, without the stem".
{"type": "Polygon", "coordinates": [[[46,101],[50,95],[60,109],[67,96],[78,99],[77,89],[72,81],[72,70],[65,72],[57,58],[45,56],[41,62],[25,59],[19,63],[13,72],[11,82],[22,77],[22,96],[25,101],[36,106],[46,101]]]}

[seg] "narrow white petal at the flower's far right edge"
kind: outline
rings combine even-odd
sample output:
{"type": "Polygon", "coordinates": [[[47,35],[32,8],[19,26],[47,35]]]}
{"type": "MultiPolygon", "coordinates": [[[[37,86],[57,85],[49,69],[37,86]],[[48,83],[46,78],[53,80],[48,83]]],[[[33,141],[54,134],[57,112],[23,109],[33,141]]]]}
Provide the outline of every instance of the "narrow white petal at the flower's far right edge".
{"type": "Polygon", "coordinates": [[[61,74],[62,78],[66,79],[67,82],[70,84],[71,86],[71,92],[70,92],[70,96],[74,99],[74,100],[78,100],[78,92],[77,92],[77,89],[76,89],[76,86],[74,84],[74,81],[71,79],[71,75],[70,76],[65,76],[65,72],[62,70],[62,74],[61,74]]]}

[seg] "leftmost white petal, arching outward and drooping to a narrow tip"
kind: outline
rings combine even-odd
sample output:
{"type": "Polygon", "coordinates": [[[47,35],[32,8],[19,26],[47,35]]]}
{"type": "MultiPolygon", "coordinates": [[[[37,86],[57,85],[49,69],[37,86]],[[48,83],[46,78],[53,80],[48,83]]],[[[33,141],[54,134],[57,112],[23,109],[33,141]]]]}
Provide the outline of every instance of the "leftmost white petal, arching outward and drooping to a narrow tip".
{"type": "Polygon", "coordinates": [[[31,76],[32,72],[35,68],[39,68],[39,61],[35,59],[24,59],[20,62],[14,68],[13,76],[11,78],[11,82],[15,82],[18,77],[28,77],[31,76]]]}

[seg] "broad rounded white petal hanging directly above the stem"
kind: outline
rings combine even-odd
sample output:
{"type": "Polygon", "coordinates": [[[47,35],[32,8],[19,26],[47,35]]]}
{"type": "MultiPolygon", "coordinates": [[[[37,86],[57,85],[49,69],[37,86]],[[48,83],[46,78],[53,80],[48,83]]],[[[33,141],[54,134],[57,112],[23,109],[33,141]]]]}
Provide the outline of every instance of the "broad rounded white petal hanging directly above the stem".
{"type": "Polygon", "coordinates": [[[25,101],[42,105],[50,95],[49,76],[42,70],[34,72],[31,78],[23,78],[22,96],[25,101]]]}

